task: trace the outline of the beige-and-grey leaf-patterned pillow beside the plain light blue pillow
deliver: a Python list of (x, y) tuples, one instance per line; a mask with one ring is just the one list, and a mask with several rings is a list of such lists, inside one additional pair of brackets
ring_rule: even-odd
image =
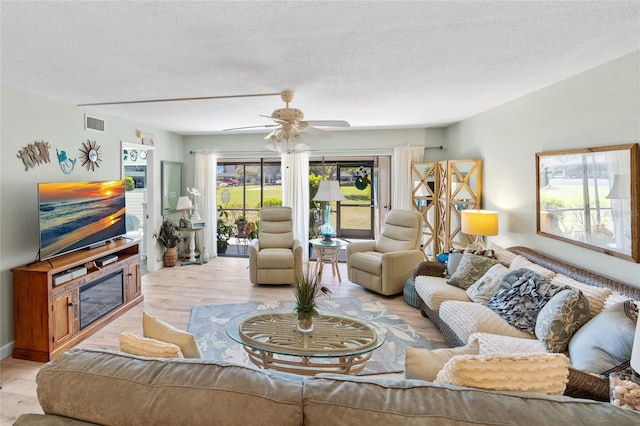
[(569, 340), (591, 318), (589, 300), (580, 290), (562, 290), (540, 309), (536, 337), (549, 352), (565, 352)]

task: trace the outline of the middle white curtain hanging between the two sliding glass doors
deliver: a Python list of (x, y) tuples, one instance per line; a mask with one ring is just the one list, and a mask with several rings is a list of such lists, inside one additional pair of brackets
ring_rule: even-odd
[(302, 244), (302, 261), (309, 258), (309, 153), (282, 154), (282, 205), (291, 207), (293, 237)]

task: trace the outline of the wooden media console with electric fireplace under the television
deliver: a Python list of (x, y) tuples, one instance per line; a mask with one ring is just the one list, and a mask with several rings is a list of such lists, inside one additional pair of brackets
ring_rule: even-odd
[[(100, 259), (117, 256), (98, 266)], [(86, 273), (58, 285), (66, 272), (86, 267)], [(120, 239), (28, 265), (13, 272), (13, 357), (46, 362), (98, 331), (142, 302), (140, 240)], [(82, 273), (80, 272), (77, 274)], [(122, 276), (122, 304), (81, 327), (80, 293), (92, 284)]]

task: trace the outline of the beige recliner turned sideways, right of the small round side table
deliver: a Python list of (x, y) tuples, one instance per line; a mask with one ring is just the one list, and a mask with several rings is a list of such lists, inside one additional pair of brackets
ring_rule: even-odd
[(376, 241), (358, 241), (347, 246), (349, 281), (386, 296), (401, 293), (418, 263), (422, 215), (417, 211), (391, 210)]

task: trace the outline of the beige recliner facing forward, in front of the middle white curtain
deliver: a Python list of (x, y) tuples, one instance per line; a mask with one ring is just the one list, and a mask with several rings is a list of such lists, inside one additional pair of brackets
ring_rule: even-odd
[(302, 271), (302, 246), (293, 238), (291, 207), (263, 207), (258, 238), (249, 245), (253, 284), (293, 284)]

